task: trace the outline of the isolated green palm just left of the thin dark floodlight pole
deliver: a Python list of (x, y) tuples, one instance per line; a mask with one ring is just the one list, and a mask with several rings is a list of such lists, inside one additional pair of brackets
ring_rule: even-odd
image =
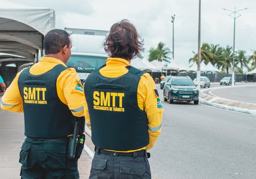
[(157, 48), (151, 47), (149, 52), (149, 61), (158, 60), (158, 61), (164, 61), (164, 60), (170, 60), (170, 57), (168, 56), (172, 52), (168, 47), (164, 47), (165, 44), (162, 42), (159, 42), (157, 45)]

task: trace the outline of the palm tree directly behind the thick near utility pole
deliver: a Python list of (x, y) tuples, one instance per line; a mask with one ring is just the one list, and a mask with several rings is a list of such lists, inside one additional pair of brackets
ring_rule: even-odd
[[(210, 61), (213, 61), (213, 55), (210, 52), (210, 48), (211, 47), (209, 46), (208, 43), (203, 43), (202, 44), (202, 47), (201, 47), (201, 61), (200, 61), (200, 63), (202, 61), (204, 61), (205, 64), (208, 64)], [(191, 62), (191, 61), (196, 62), (197, 59), (198, 59), (198, 54), (195, 53), (194, 51), (193, 51), (193, 53), (194, 53), (194, 57), (190, 58), (189, 62)]]

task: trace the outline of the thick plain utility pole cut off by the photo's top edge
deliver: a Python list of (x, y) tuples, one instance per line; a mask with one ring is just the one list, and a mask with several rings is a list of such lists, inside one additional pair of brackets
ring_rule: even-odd
[(200, 92), (200, 78), (201, 78), (201, 72), (200, 72), (200, 63), (201, 63), (201, 0), (199, 0), (199, 21), (198, 21), (198, 59), (197, 59), (197, 89)]

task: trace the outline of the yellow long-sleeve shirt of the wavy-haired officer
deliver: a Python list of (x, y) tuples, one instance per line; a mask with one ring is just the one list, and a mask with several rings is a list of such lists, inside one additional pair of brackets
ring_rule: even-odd
[[(106, 66), (100, 69), (100, 73), (104, 77), (116, 78), (124, 75), (128, 72), (126, 66), (131, 65), (127, 60), (121, 58), (108, 58), (106, 60)], [(86, 86), (84, 86), (86, 88)], [(138, 84), (137, 100), (138, 106), (142, 111), (146, 112), (148, 119), (148, 134), (149, 144), (141, 149), (151, 149), (160, 135), (163, 107), (158, 105), (157, 99), (158, 94), (155, 92), (156, 86), (154, 80), (148, 73), (141, 76), (141, 80)], [(85, 97), (86, 98), (86, 97)], [(84, 98), (84, 114), (88, 128), (91, 129), (90, 115), (88, 112), (87, 102)], [(118, 135), (118, 134), (117, 134)], [(137, 149), (137, 150), (141, 150)], [(118, 151), (118, 152), (132, 152), (137, 150), (129, 151)]]

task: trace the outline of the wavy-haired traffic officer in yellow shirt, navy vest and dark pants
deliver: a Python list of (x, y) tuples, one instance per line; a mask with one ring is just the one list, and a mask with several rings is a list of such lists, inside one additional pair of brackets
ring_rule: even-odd
[(84, 112), (95, 154), (90, 179), (151, 179), (148, 158), (161, 132), (163, 106), (154, 80), (131, 66), (143, 40), (128, 20), (106, 42), (110, 58), (84, 84)]

